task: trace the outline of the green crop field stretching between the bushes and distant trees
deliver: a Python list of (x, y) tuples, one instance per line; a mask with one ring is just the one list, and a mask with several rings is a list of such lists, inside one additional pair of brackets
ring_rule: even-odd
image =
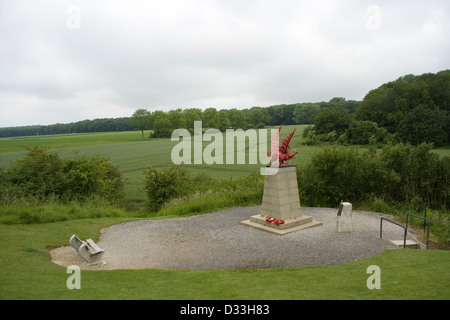
[[(297, 131), (291, 141), (293, 150), (298, 150), (298, 155), (292, 163), (307, 161), (310, 155), (320, 147), (300, 146), (301, 134), (304, 125), (286, 126), (282, 129), (280, 137), (286, 137), (297, 127)], [(148, 136), (148, 134), (147, 134)], [(280, 139), (281, 140), (281, 139)], [(181, 141), (181, 140), (180, 140)], [(230, 143), (226, 141), (223, 134), (224, 152)], [(33, 145), (43, 145), (52, 151), (56, 151), (62, 158), (71, 158), (77, 155), (100, 155), (107, 157), (113, 165), (119, 167), (125, 180), (125, 191), (130, 200), (144, 199), (143, 192), (143, 174), (149, 166), (153, 168), (162, 168), (173, 164), (171, 159), (172, 149), (179, 141), (170, 139), (147, 139), (141, 140), (141, 133), (138, 131), (113, 132), (113, 133), (93, 133), (93, 134), (64, 134), (36, 137), (17, 137), (0, 139), (0, 166), (8, 166), (11, 161), (25, 155), (26, 147)], [(211, 144), (210, 141), (203, 141), (202, 148)], [(270, 130), (268, 130), (267, 148), (270, 148)], [(202, 164), (194, 164), (194, 152), (192, 143), (192, 162), (186, 164), (186, 168), (192, 172), (206, 172), (219, 179), (227, 179), (247, 175), (252, 171), (258, 171), (262, 165), (249, 163), (249, 146), (246, 142), (245, 150), (238, 150), (236, 145), (233, 149), (235, 153), (245, 152), (246, 160), (244, 164), (227, 164), (225, 154), (223, 155), (223, 164), (208, 165), (202, 161)], [(266, 150), (258, 150), (264, 153)]]

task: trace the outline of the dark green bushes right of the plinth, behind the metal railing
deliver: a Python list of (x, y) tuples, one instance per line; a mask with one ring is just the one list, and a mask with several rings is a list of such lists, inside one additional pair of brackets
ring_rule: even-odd
[(450, 158), (431, 145), (385, 146), (380, 154), (355, 148), (326, 148), (297, 168), (302, 203), (333, 206), (374, 202), (448, 209)]

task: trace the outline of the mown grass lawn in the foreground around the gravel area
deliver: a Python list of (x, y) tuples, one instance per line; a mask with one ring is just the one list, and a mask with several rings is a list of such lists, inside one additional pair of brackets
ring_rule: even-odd
[[(66, 268), (48, 247), (72, 234), (97, 240), (103, 227), (125, 218), (0, 225), (0, 299), (297, 300), (450, 298), (450, 252), (397, 249), (331, 266), (262, 270), (81, 271), (69, 290)], [(299, 246), (299, 249), (301, 247)], [(369, 290), (367, 268), (381, 270), (381, 289)]]

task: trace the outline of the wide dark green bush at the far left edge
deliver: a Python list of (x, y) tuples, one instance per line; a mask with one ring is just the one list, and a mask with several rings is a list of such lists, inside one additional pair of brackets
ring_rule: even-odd
[(37, 198), (41, 200), (85, 200), (102, 197), (122, 200), (123, 182), (119, 170), (101, 157), (63, 160), (42, 146), (0, 170), (0, 199)]

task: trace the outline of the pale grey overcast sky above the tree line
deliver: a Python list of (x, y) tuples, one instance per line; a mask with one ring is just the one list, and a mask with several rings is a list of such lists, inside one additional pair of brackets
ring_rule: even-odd
[(450, 1), (0, 0), (0, 127), (362, 100), (450, 68)]

